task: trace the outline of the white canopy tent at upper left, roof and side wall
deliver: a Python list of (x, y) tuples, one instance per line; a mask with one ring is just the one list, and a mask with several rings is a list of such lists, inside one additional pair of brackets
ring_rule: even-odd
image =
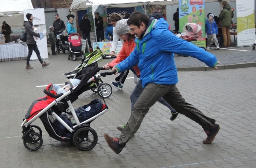
[(23, 27), (23, 10), (33, 9), (31, 0), (1, 0), (0, 24), (6, 21), (11, 29), (21, 29)]

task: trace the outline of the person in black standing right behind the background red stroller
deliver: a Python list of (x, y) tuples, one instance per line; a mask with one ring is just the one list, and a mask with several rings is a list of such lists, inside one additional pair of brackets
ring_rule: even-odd
[(92, 48), (90, 37), (91, 22), (88, 19), (88, 14), (84, 14), (83, 19), (80, 22), (79, 29), (83, 32), (83, 39), (87, 39), (89, 48)]

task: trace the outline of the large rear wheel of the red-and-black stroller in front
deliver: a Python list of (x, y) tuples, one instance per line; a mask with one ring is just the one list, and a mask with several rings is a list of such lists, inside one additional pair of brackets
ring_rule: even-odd
[(79, 150), (91, 150), (98, 142), (96, 131), (90, 127), (79, 128), (73, 136), (73, 143)]

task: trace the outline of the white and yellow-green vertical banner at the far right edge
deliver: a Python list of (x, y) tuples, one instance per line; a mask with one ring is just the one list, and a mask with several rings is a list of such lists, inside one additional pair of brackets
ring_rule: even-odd
[(237, 0), (237, 45), (252, 45), (255, 40), (254, 0)]

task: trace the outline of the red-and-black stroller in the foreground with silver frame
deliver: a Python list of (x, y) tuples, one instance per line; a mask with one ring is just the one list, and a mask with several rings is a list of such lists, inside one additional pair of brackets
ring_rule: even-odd
[(61, 142), (73, 143), (79, 150), (90, 150), (95, 147), (98, 142), (98, 135), (90, 127), (90, 123), (108, 111), (105, 101), (102, 104), (100, 100), (95, 99), (90, 104), (75, 110), (72, 102), (80, 94), (90, 90), (92, 85), (99, 86), (98, 79), (101, 76), (105, 77), (115, 73), (115, 71), (112, 71), (97, 74), (100, 69), (102, 68), (98, 67), (97, 62), (92, 63), (77, 73), (76, 78), (81, 80), (77, 86), (64, 94), (57, 94), (53, 85), (49, 84), (44, 89), (46, 96), (33, 101), (21, 125), (23, 128), (23, 144), (28, 150), (38, 150), (43, 144), (41, 128), (31, 125), (37, 118), (41, 119), (46, 131), (52, 138)]

